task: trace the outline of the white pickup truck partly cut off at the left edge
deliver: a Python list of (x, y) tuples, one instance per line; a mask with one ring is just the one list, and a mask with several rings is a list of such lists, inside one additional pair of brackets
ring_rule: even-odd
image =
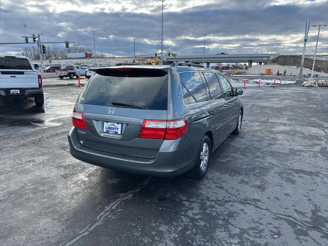
[(0, 55), (0, 99), (34, 97), (35, 105), (44, 105), (42, 76), (26, 56)]

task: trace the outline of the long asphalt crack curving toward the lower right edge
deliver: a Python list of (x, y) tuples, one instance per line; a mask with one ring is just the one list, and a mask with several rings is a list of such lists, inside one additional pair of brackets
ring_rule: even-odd
[[(175, 197), (176, 199), (178, 200), (181, 200), (181, 201), (188, 201), (188, 200), (184, 200), (184, 199), (180, 199), (179, 197)], [(314, 229), (317, 229), (317, 230), (320, 230), (321, 232), (323, 233), (326, 233), (328, 234), (328, 230), (325, 230), (321, 227), (317, 227), (317, 226), (312, 226), (311, 224), (308, 224), (308, 223), (305, 223), (299, 219), (296, 219), (294, 216), (292, 215), (286, 215), (286, 214), (280, 214), (280, 213), (276, 213), (276, 212), (272, 212), (270, 211), (269, 209), (265, 209), (265, 208), (262, 208), (252, 202), (248, 202), (248, 201), (237, 201), (237, 200), (220, 200), (220, 199), (196, 199), (196, 200), (189, 200), (189, 202), (200, 202), (200, 201), (212, 201), (212, 202), (222, 202), (222, 203), (240, 203), (240, 204), (248, 204), (250, 206), (253, 206), (257, 209), (260, 209), (260, 210), (263, 210), (263, 211), (266, 211), (270, 214), (273, 214), (279, 218), (284, 218), (284, 219), (288, 219), (288, 220), (291, 220), (301, 226), (304, 226), (304, 227), (308, 227), (308, 228), (314, 228)]]

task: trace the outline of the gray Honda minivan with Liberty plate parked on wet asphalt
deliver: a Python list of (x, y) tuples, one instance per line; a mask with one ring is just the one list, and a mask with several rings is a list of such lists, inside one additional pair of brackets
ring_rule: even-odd
[(240, 132), (241, 94), (197, 64), (96, 69), (73, 109), (70, 152), (135, 174), (201, 178), (211, 152)]

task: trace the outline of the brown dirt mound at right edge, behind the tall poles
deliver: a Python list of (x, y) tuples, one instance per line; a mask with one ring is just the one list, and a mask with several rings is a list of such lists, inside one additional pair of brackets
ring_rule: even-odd
[[(301, 55), (280, 55), (270, 61), (267, 64), (277, 64), (282, 66), (295, 66), (301, 65)], [(313, 59), (304, 59), (304, 68), (312, 69)], [(328, 61), (317, 60), (314, 66), (314, 71), (328, 73)]]

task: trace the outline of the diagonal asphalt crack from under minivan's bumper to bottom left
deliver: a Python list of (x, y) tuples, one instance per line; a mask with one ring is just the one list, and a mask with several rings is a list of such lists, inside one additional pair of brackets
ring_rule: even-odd
[(95, 229), (97, 226), (101, 224), (101, 222), (119, 205), (119, 203), (121, 203), (121, 201), (131, 198), (133, 193), (140, 191), (141, 188), (146, 186), (151, 179), (152, 177), (146, 178), (144, 181), (139, 183), (139, 185), (136, 188), (122, 194), (118, 199), (110, 203), (109, 206), (106, 206), (105, 210), (97, 216), (97, 219), (93, 223), (89, 224), (89, 226), (87, 226), (84, 230), (79, 232), (71, 240), (61, 244), (61, 246), (72, 245), (74, 242), (78, 241), (81, 237), (88, 235), (90, 232), (92, 232), (93, 229)]

